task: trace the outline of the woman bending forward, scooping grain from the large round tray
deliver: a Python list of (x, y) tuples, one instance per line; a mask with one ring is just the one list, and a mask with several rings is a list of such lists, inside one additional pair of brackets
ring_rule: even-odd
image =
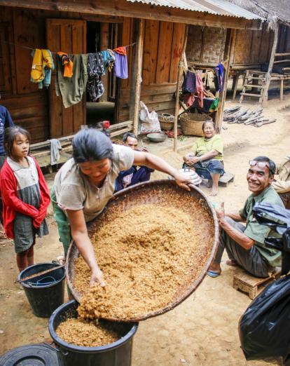
[(158, 156), (112, 144), (109, 137), (95, 128), (78, 132), (72, 144), (73, 158), (62, 165), (55, 175), (51, 191), (54, 217), (64, 255), (67, 255), (73, 238), (92, 271), (90, 285), (99, 283), (104, 286), (86, 222), (95, 219), (113, 196), (115, 180), (120, 171), (132, 165), (146, 165), (171, 175), (179, 187), (188, 191), (191, 179)]

